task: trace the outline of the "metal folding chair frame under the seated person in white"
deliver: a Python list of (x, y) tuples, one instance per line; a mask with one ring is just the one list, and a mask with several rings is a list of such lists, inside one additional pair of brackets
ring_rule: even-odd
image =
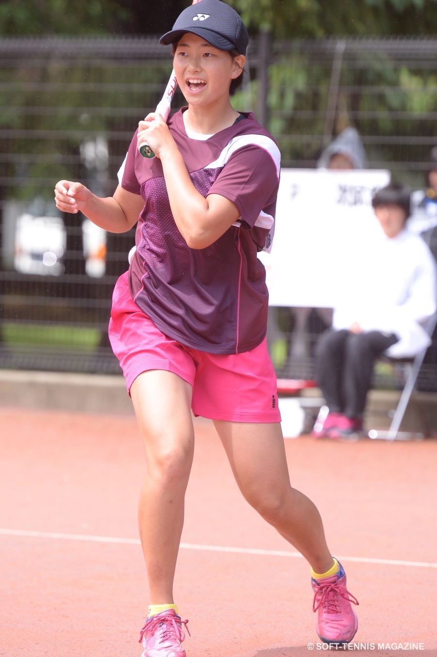
[[(429, 336), (432, 336), (434, 332), (434, 328), (436, 327), (437, 323), (437, 313), (435, 315), (432, 315), (428, 319), (428, 321), (425, 323), (425, 330), (427, 331)], [(417, 376), (419, 375), (419, 371), (422, 367), (423, 359), (425, 358), (425, 354), (427, 353), (428, 348), (423, 349), (422, 351), (419, 351), (417, 355), (411, 360), (411, 361), (402, 361), (403, 363), (407, 363), (407, 369), (408, 373), (405, 379), (404, 383), (404, 388), (402, 390), (402, 394), (399, 398), (398, 405), (396, 407), (396, 411), (394, 411), (394, 415), (392, 417), (392, 422), (390, 424), (390, 428), (388, 431), (380, 431), (376, 429), (371, 429), (369, 431), (369, 438), (379, 438), (383, 440), (417, 440), (418, 436), (417, 434), (413, 434), (412, 432), (400, 432), (400, 425), (402, 423), (402, 420), (404, 419), (404, 415), (407, 410), (407, 405), (409, 403), (409, 400), (411, 398), (411, 395), (413, 394), (417, 382)], [(395, 359), (389, 359), (390, 362), (395, 363)], [(425, 438), (425, 436), (420, 436), (420, 438)]]

